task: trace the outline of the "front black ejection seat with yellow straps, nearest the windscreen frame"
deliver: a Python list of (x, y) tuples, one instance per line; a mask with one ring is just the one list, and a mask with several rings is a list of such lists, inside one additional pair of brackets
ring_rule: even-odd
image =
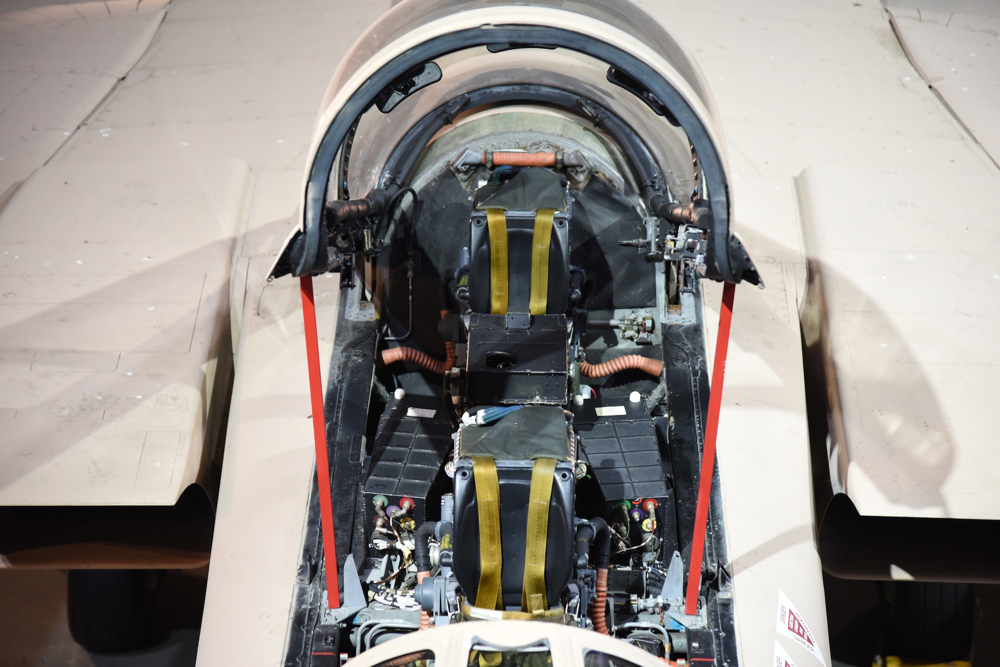
[(472, 618), (561, 619), (573, 574), (572, 433), (557, 405), (460, 431), (454, 571)]

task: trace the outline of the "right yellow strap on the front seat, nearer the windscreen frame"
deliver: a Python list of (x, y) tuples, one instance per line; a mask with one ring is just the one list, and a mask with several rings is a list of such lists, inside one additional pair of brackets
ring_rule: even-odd
[[(556, 459), (536, 458), (531, 468), (531, 497), (528, 500), (528, 529), (524, 545), (524, 592), (521, 610), (535, 616), (548, 611), (545, 590), (545, 547), (549, 540), (549, 504)], [(478, 598), (476, 600), (478, 602)]]

